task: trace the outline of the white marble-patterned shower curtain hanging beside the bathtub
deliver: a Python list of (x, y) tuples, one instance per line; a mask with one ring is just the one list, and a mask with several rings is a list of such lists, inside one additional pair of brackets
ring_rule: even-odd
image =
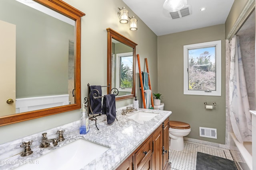
[(229, 106), (230, 121), (240, 143), (252, 141), (252, 117), (246, 90), (239, 37), (234, 36), (230, 47)]

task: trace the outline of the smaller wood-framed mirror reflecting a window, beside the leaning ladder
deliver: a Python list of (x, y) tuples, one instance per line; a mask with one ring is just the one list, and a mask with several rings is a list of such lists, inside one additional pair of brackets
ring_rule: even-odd
[(136, 43), (118, 32), (108, 31), (108, 84), (118, 89), (116, 100), (135, 96), (135, 49)]

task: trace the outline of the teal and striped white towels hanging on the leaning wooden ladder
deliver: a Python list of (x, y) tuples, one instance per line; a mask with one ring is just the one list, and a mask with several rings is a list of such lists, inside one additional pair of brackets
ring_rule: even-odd
[(151, 90), (149, 89), (148, 84), (148, 72), (141, 72), (142, 74), (142, 83), (144, 89), (146, 109), (149, 109), (151, 106)]

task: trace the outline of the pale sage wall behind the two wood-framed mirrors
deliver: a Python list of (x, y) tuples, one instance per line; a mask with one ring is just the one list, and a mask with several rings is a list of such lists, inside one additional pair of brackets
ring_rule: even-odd
[[(87, 96), (87, 84), (107, 84), (107, 31), (110, 27), (121, 33), (128, 39), (137, 43), (136, 53), (140, 54), (140, 63), (144, 70), (144, 58), (148, 58), (150, 80), (153, 91), (158, 89), (157, 83), (157, 36), (140, 20), (122, 0), (85, 1), (64, 0), (78, 10), (86, 13), (82, 17), (82, 42), (81, 42), (81, 98)], [(130, 31), (129, 24), (120, 24), (117, 16), (118, 7), (125, 6), (129, 10), (129, 16), (138, 19), (138, 30)], [(61, 85), (60, 85), (61, 86)], [(106, 90), (103, 89), (103, 94)], [(141, 91), (139, 89), (138, 63), (136, 63), (136, 96), (142, 107)], [(116, 107), (132, 104), (134, 99), (116, 102)], [(80, 118), (80, 111), (69, 111), (57, 115), (51, 115), (12, 125), (0, 127), (0, 144), (25, 137), (40, 131), (46, 131)], [(92, 127), (94, 128), (94, 127)], [(17, 129), (19, 132), (17, 133)]]

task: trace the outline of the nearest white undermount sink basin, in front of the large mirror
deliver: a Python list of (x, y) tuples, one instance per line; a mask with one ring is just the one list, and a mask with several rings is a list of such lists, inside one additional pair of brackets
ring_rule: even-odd
[(108, 147), (104, 147), (84, 139), (77, 139), (76, 141), (68, 143), (67, 145), (52, 150), (51, 152), (34, 159), (33, 164), (30, 163), (19, 166), (17, 170), (81, 169), (95, 158), (98, 158), (108, 149)]

